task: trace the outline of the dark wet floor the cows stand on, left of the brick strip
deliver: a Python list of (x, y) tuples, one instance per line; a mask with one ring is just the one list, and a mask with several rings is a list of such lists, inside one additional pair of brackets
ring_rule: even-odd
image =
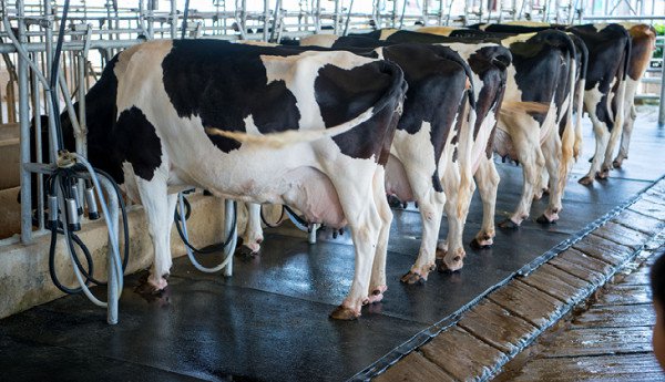
[[(328, 313), (350, 287), (354, 251), (348, 235), (309, 246), (304, 234), (268, 230), (259, 257), (235, 260), (234, 276), (204, 275), (186, 258), (174, 261), (162, 299), (145, 301), (126, 278), (120, 323), (73, 296), (0, 321), (0, 380), (265, 380), (339, 381), (354, 376), (418, 332), (446, 319), (510, 278), (571, 235), (631, 199), (665, 174), (665, 130), (653, 109), (642, 111), (624, 169), (587, 188), (576, 183), (589, 164), (574, 167), (556, 225), (533, 221), (498, 230), (491, 249), (467, 248), (466, 266), (432, 273), (424, 286), (399, 277), (413, 262), (421, 235), (413, 208), (396, 210), (388, 254), (388, 292), (355, 322)], [(593, 149), (585, 126), (585, 154)], [(521, 168), (499, 164), (497, 220), (512, 210), (521, 190)], [(482, 220), (478, 195), (467, 224), (468, 244)], [(446, 220), (441, 238), (446, 236)], [(280, 234), (279, 234), (280, 233)], [(214, 261), (215, 259), (211, 259)]]

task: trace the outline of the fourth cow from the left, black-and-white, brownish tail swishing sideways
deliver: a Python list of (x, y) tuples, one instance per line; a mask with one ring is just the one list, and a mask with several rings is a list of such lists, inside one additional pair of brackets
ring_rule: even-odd
[[(500, 227), (516, 228), (529, 216), (532, 200), (546, 188), (543, 166), (549, 174), (551, 196), (548, 208), (536, 220), (541, 224), (556, 221), (562, 209), (565, 180), (573, 163), (575, 142), (572, 109), (576, 51), (571, 38), (555, 30), (485, 39), (397, 31), (390, 33), (387, 41), (492, 41), (510, 49), (513, 62), (508, 69), (508, 89), (502, 106), (504, 112), (500, 114), (493, 145), (500, 155), (522, 164), (524, 182), (518, 208), (500, 223)], [(538, 107), (542, 104), (548, 106), (546, 110)], [(519, 107), (507, 109), (507, 105)]]

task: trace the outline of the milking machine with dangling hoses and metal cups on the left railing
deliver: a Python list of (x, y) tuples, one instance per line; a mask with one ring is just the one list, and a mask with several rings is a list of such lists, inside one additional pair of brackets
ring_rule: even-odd
[[(51, 231), (51, 242), (49, 249), (49, 271), (53, 283), (65, 293), (84, 293), (94, 304), (104, 307), (108, 310), (106, 321), (109, 323), (117, 323), (117, 301), (123, 289), (123, 273), (129, 260), (129, 229), (126, 209), (122, 199), (122, 195), (117, 184), (113, 178), (99, 169), (93, 168), (84, 156), (78, 153), (69, 153), (64, 149), (62, 126), (60, 121), (60, 100), (58, 95), (59, 78), (60, 78), (60, 55), (64, 41), (64, 29), (68, 20), (68, 11), (70, 1), (65, 0), (62, 6), (62, 18), (60, 19), (60, 31), (55, 50), (53, 52), (52, 62), (50, 64), (50, 81), (47, 81), (44, 75), (39, 71), (37, 63), (32, 62), (24, 51), (21, 42), (24, 42), (25, 23), (21, 19), (23, 13), (22, 2), (20, 2), (19, 11), (19, 38), (13, 35), (9, 25), (7, 16), (3, 18), (8, 35), (14, 43), (20, 58), (20, 72), (22, 76), (27, 74), (28, 68), (32, 69), (35, 76), (42, 83), (48, 97), (50, 97), (49, 113), (49, 137), (50, 137), (50, 158), (51, 164), (39, 164), (23, 162), (23, 169), (27, 174), (23, 177), (24, 187), (21, 189), (21, 203), (30, 203), (30, 173), (47, 175), (47, 204), (49, 217), (47, 228)], [(45, 12), (50, 12), (50, 3), (45, 2)], [(51, 22), (50, 20), (48, 21)], [(50, 24), (47, 29), (47, 52), (51, 51), (51, 41), (49, 40)], [(50, 54), (48, 54), (49, 56)], [(51, 61), (51, 60), (47, 60)], [(65, 85), (65, 84), (61, 84)], [(25, 86), (20, 86), (20, 90), (25, 90)], [(21, 97), (28, 100), (27, 96)], [(28, 113), (27, 105), (20, 105), (22, 124), (27, 125)], [(39, 132), (38, 132), (39, 134)], [(23, 135), (22, 141), (29, 147), (29, 135)], [(40, 149), (38, 147), (37, 149)], [(25, 151), (29, 152), (29, 151)], [(38, 197), (41, 197), (38, 196)], [(99, 200), (99, 205), (98, 205)], [(119, 209), (123, 217), (124, 231), (124, 256), (121, 259), (119, 246)], [(83, 242), (82, 238), (76, 234), (81, 230), (81, 223), (84, 218), (84, 213), (88, 213), (89, 220), (98, 220), (104, 218), (109, 230), (109, 257), (108, 257), (108, 281), (103, 282), (94, 278), (93, 258), (90, 250)], [(101, 214), (100, 214), (101, 211)], [(59, 235), (65, 239), (66, 250), (72, 264), (74, 277), (78, 281), (78, 287), (64, 286), (58, 277), (55, 266), (55, 249)], [(78, 248), (78, 249), (76, 249)], [(81, 258), (84, 258), (85, 266)], [(96, 298), (90, 287), (93, 285), (106, 286), (108, 297), (106, 302)]]

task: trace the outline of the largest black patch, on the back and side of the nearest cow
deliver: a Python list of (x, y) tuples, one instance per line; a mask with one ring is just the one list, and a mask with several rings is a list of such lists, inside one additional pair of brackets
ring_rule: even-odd
[[(229, 44), (217, 40), (173, 41), (164, 58), (164, 89), (181, 117), (200, 116), (204, 127), (245, 132), (252, 115), (260, 133), (298, 128), (296, 97), (284, 81), (267, 83), (262, 54), (294, 55), (296, 49)], [(225, 153), (237, 141), (208, 135)]]

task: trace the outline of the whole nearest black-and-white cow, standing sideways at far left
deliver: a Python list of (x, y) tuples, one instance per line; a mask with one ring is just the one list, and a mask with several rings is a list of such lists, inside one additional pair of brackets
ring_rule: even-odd
[(386, 289), (385, 164), (405, 92), (399, 66), (377, 56), (151, 41), (119, 53), (86, 94), (90, 161), (145, 209), (154, 290), (171, 268), (176, 193), (195, 186), (348, 225), (355, 275), (330, 316), (355, 319)]

